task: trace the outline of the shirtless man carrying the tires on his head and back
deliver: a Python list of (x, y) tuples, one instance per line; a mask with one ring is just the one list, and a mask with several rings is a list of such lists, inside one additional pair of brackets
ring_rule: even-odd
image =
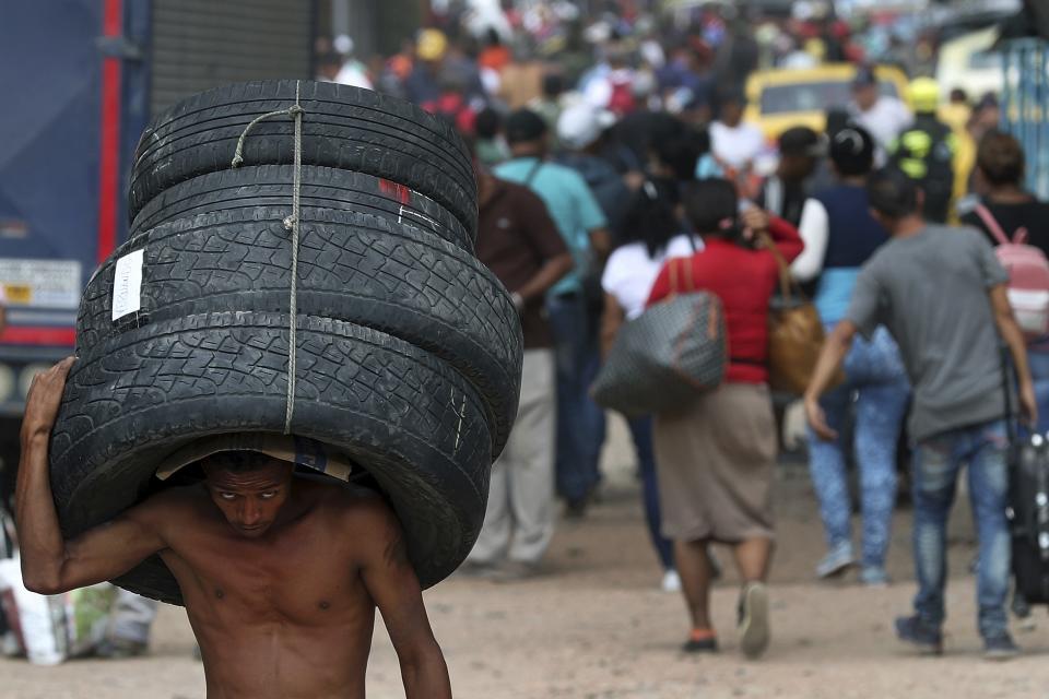
[(451, 697), (400, 525), (373, 494), (225, 452), (202, 462), (203, 484), (63, 541), (47, 449), (71, 365), (39, 375), (26, 401), (15, 500), (26, 588), (82, 588), (160, 554), (181, 588), (210, 699), (364, 697), (378, 606), (406, 697)]

